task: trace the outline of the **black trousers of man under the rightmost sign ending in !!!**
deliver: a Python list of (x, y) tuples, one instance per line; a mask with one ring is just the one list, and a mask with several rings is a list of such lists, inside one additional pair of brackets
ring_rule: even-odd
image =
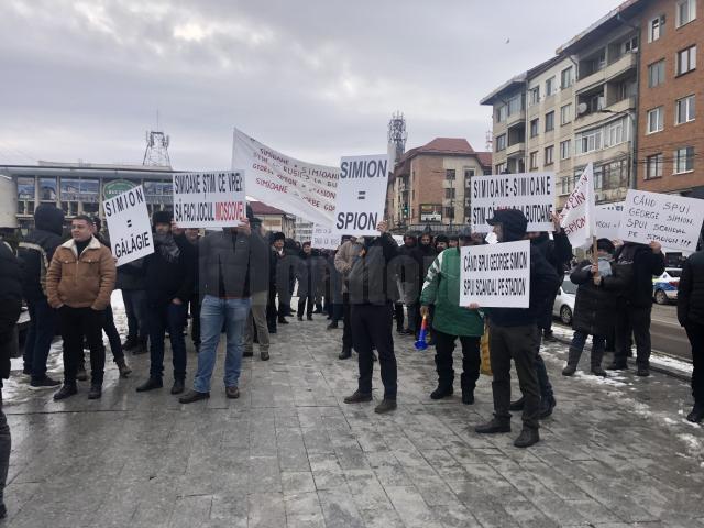
[(619, 306), (616, 311), (616, 352), (614, 363), (625, 365), (630, 351), (630, 336), (636, 341), (636, 363), (638, 366), (650, 364), (650, 312), (652, 306), (635, 307), (629, 304)]

